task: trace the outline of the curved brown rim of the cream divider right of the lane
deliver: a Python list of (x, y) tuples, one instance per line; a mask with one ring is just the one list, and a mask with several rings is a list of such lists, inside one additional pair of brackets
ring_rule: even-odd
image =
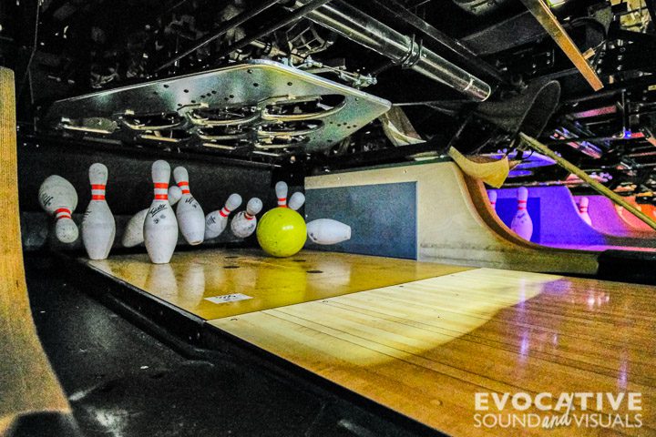
[(487, 198), (487, 190), (480, 180), (463, 175), (467, 192), (471, 198), (478, 216), (485, 222), (487, 227), (494, 231), (499, 239), (505, 241), (507, 249), (516, 250), (526, 254), (533, 259), (541, 259), (540, 264), (544, 265), (545, 271), (559, 271), (563, 273), (589, 273), (594, 274), (599, 268), (597, 261), (597, 252), (589, 250), (569, 250), (553, 249), (546, 246), (527, 241), (518, 237), (515, 232), (509, 229), (500, 219), (496, 211), (490, 206)]

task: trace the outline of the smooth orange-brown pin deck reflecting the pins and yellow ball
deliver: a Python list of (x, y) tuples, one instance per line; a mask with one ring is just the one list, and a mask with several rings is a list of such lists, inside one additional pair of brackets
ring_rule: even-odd
[[(468, 269), (407, 259), (305, 250), (292, 258), (276, 259), (264, 256), (257, 249), (180, 252), (169, 264), (159, 265), (150, 263), (146, 254), (87, 262), (95, 269), (206, 320)], [(219, 304), (206, 300), (234, 293), (252, 299)]]

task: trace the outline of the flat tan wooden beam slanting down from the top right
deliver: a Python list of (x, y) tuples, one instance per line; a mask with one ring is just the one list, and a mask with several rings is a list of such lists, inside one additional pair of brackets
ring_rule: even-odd
[(586, 58), (580, 53), (579, 47), (569, 37), (567, 31), (560, 25), (558, 19), (551, 12), (544, 0), (521, 0), (527, 7), (528, 11), (536, 17), (538, 23), (545, 28), (547, 33), (556, 41), (556, 44), (565, 52), (569, 60), (577, 67), (580, 74), (585, 77), (592, 89), (599, 91), (603, 88), (603, 83), (597, 72), (589, 66)]

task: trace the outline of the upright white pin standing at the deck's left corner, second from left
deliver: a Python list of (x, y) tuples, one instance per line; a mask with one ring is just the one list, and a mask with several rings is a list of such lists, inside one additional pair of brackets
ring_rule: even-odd
[(96, 163), (89, 167), (91, 201), (82, 219), (82, 242), (90, 259), (107, 259), (116, 237), (116, 222), (105, 200), (108, 168)]

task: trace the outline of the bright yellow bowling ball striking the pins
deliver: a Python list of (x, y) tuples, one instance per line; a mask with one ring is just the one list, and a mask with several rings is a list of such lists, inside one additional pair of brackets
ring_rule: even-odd
[(274, 257), (291, 257), (307, 239), (305, 220), (290, 208), (273, 208), (262, 216), (257, 228), (262, 249)]

